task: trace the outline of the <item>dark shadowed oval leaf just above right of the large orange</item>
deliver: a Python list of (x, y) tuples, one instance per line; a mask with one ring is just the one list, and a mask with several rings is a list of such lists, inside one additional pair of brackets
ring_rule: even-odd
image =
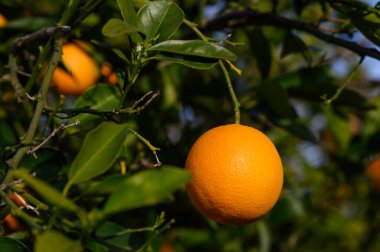
[(289, 102), (286, 91), (274, 81), (268, 81), (261, 85), (260, 94), (264, 102), (273, 110), (273, 112), (282, 118), (297, 118), (293, 106)]

